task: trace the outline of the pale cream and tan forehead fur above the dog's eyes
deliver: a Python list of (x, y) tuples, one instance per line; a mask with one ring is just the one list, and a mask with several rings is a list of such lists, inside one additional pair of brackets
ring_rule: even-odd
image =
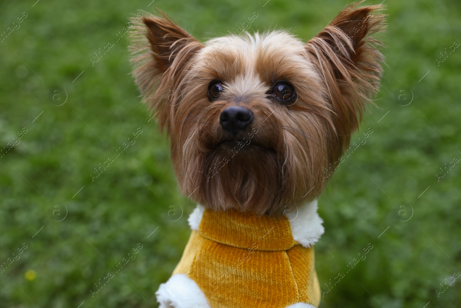
[(228, 91), (265, 93), (276, 81), (293, 83), (318, 78), (307, 60), (305, 43), (286, 31), (223, 36), (205, 43), (195, 69), (225, 81)]

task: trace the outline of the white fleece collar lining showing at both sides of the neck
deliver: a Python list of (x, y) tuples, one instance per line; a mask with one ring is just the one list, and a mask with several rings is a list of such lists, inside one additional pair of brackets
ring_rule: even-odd
[[(307, 248), (318, 242), (320, 236), (325, 232), (322, 225), (323, 220), (317, 213), (317, 208), (317, 200), (313, 200), (300, 208), (296, 208), (297, 213), (293, 213), (295, 217), (289, 218), (293, 239)], [(190, 229), (198, 231), (204, 210), (203, 205), (198, 204), (192, 211), (187, 219)]]

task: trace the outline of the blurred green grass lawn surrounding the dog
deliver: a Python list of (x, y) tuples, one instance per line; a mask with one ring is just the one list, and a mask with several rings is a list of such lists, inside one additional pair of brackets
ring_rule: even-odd
[[(18, 29), (0, 42), (0, 142), (16, 143), (0, 155), (0, 307), (156, 307), (154, 292), (181, 257), (195, 205), (179, 195), (168, 142), (140, 103), (127, 35), (113, 38), (128, 16), (159, 7), (204, 41), (256, 12), (250, 32), (282, 27), (307, 40), (347, 3), (2, 1), (0, 30)], [(373, 133), (319, 199), (321, 307), (461, 307), (461, 48), (445, 53), (461, 42), (461, 2), (384, 4), (381, 91), (352, 140)], [(136, 259), (92, 295), (138, 243)]]

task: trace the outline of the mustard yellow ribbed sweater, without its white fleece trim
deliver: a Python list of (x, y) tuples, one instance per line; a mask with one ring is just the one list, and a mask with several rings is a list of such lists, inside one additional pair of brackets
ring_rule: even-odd
[(194, 280), (212, 308), (320, 303), (313, 247), (293, 239), (285, 216), (206, 209), (174, 274)]

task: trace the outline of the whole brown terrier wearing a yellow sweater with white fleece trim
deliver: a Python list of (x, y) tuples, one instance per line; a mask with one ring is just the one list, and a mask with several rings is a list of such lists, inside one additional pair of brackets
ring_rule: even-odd
[(161, 308), (319, 306), (316, 199), (382, 76), (384, 7), (362, 2), (307, 42), (272, 30), (202, 43), (161, 11), (136, 23), (134, 79), (198, 204)]

